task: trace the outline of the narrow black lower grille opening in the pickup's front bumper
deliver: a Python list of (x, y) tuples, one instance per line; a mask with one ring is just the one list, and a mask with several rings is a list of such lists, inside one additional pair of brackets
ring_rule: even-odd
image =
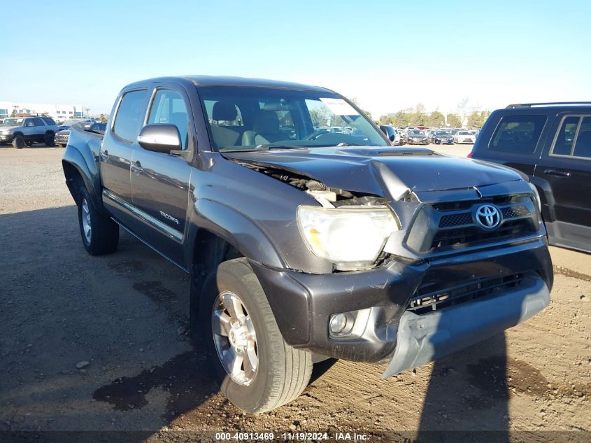
[(429, 283), (419, 286), (406, 309), (414, 314), (427, 314), (454, 304), (480, 297), (493, 297), (517, 288), (525, 281), (523, 274), (476, 279), (455, 283)]

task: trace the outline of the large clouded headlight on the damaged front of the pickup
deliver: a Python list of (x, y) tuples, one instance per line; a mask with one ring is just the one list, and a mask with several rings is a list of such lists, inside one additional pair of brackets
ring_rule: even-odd
[(386, 206), (299, 206), (297, 223), (308, 248), (341, 271), (372, 267), (390, 234), (399, 230)]

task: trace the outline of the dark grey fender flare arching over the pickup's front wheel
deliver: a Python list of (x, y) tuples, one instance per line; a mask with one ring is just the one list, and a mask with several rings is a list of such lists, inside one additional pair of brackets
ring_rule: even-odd
[[(285, 260), (269, 236), (253, 220), (236, 209), (211, 199), (198, 199), (192, 206), (188, 244), (194, 245), (201, 230), (227, 241), (249, 260), (285, 269)], [(186, 250), (187, 263), (194, 260), (194, 248)]]

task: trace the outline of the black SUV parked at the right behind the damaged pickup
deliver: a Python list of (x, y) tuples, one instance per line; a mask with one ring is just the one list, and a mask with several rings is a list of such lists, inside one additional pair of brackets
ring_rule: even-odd
[(591, 252), (591, 102), (511, 104), (494, 111), (469, 157), (535, 183), (550, 244)]

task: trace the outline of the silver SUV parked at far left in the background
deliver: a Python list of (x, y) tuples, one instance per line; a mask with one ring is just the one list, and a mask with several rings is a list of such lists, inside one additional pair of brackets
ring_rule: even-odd
[(55, 146), (53, 138), (58, 130), (55, 121), (50, 117), (6, 118), (0, 129), (0, 143), (12, 143), (17, 149), (32, 146), (33, 143)]

